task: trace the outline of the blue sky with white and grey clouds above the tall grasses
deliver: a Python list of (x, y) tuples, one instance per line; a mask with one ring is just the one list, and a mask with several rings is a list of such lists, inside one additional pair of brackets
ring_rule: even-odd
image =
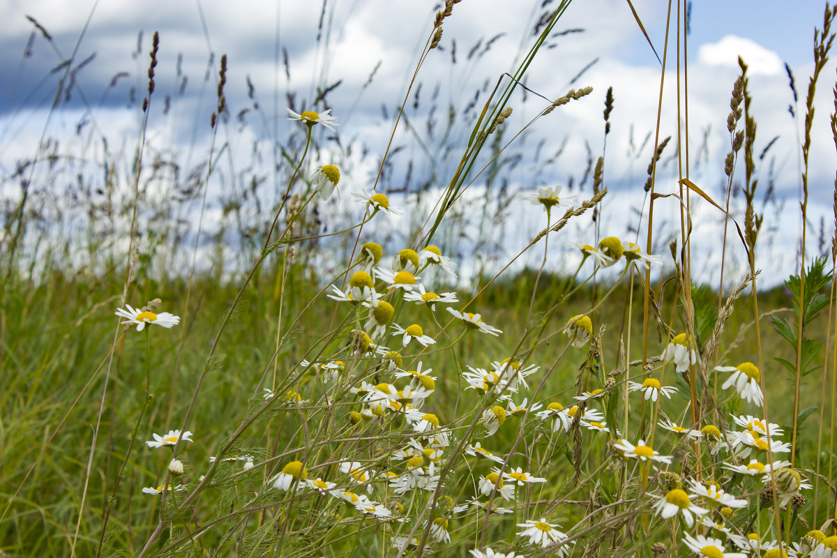
[[(634, 1), (660, 57), (666, 5), (660, 0)], [(345, 187), (370, 187), (376, 161), (380, 161), (392, 131), (393, 113), (403, 100), (438, 8), (434, 2), (420, 0), (331, 0), (325, 5), (301, 0), (7, 0), (0, 4), (0, 18), (5, 23), (0, 38), (5, 76), (0, 86), (3, 195), (15, 195), (9, 177), (18, 161), (35, 156), (42, 137), (59, 141), (62, 153), (80, 157), (98, 156), (101, 142), (91, 141), (91, 137), (105, 138), (111, 151), (131, 152), (141, 120), (138, 106), (146, 88), (147, 53), (154, 31), (160, 33), (161, 46), (149, 124), (153, 149), (177, 153), (187, 168), (205, 158), (210, 137), (208, 119), (216, 102), (218, 59), (227, 54), (229, 118), (225, 140), (231, 153), (230, 166), (239, 166), (240, 171), (242, 166), (254, 166), (257, 160), (270, 169), (272, 150), (259, 151), (254, 146), (274, 145), (274, 140), (285, 144), (295, 132), (294, 124), (285, 118), (289, 93), (297, 110), (311, 108), (318, 90), (336, 84), (326, 102), (340, 127), (336, 136), (322, 136), (321, 144), (326, 152), (339, 146), (344, 157), (347, 146), (356, 146), (352, 164), (346, 163), (350, 172), (346, 173)], [(726, 118), (732, 84), (739, 74), (737, 56), (741, 55), (750, 65), (752, 111), (758, 125), (755, 151), (760, 153), (778, 138), (757, 166), (762, 194), (768, 182), (776, 193), (764, 210), (768, 240), (760, 264), (778, 274), (788, 272), (796, 261), (798, 131), (804, 117), (798, 115), (794, 120), (789, 114), (793, 95), (784, 64), (792, 69), (799, 100), (804, 102), (813, 69), (814, 26), (821, 26), (823, 8), (823, 3), (814, 1), (794, 3), (793, 11), (788, 10), (787, 3), (778, 1), (691, 3), (691, 177), (719, 202), (723, 199), (722, 161), (729, 149)], [(427, 182), (419, 177), (422, 173), (432, 177), (428, 179), (431, 186), (446, 184), (461, 154), (456, 149), (462, 148), (470, 136), (471, 128), (465, 125), (472, 125), (473, 120), (469, 120), (465, 107), (478, 95), (475, 107), (470, 108), (472, 119), (501, 74), (516, 69), (531, 47), (532, 29), (543, 12), (540, 0), (463, 0), (455, 6), (444, 23), (440, 49), (429, 54), (417, 77), (421, 89), (415, 107), (413, 86), (407, 110), (413, 131), (405, 131), (402, 123), (396, 136), (395, 145), (402, 151), (393, 156), (390, 187), (403, 183), (410, 188)], [(50, 33), (52, 42), (34, 30), (27, 16)], [(510, 157), (519, 158), (519, 164), (506, 166), (502, 177), (514, 192), (572, 182), (573, 193), (589, 196), (589, 180), (581, 189), (579, 185), (588, 157), (601, 155), (603, 100), (608, 87), (613, 87), (616, 101), (605, 166), (605, 184), (611, 194), (603, 207), (602, 227), (605, 233), (612, 231), (624, 237), (637, 221), (630, 208), (643, 207), (642, 186), (653, 136), (650, 144), (645, 140), (655, 128), (660, 62), (624, 0), (576, 0), (562, 15), (555, 32), (531, 64), (526, 87), (549, 99), (563, 95), (570, 87), (586, 85), (593, 87), (593, 94), (527, 128), (507, 151)], [(486, 48), (492, 38), (490, 48)], [(672, 28), (661, 137), (676, 135), (674, 49)], [(90, 56), (94, 58), (83, 63)], [(70, 57), (72, 88), (68, 93), (65, 82), (63, 94), (50, 112), (59, 79), (65, 75), (59, 64)], [(834, 75), (834, 63), (829, 62), (816, 99), (809, 218), (809, 235), (814, 243), (820, 217), (829, 234), (834, 221), (830, 206), (837, 156), (828, 126), (828, 115), (834, 110)], [(546, 101), (537, 95), (524, 95), (518, 90), (512, 97), (514, 113), (506, 123), (506, 138), (543, 110)], [(441, 130), (449, 106), (456, 107), (456, 122), (462, 126), (454, 128), (443, 141)], [(322, 109), (323, 105), (318, 107)], [(802, 110), (799, 107), (798, 112)], [(429, 122), (435, 125), (434, 134), (426, 131)], [(443, 153), (443, 145), (452, 153)], [(253, 155), (255, 151), (259, 156)], [(558, 151), (560, 156), (553, 156)], [(660, 192), (675, 191), (674, 155), (672, 142), (658, 175)], [(404, 169), (406, 161), (415, 162), (410, 177)], [(129, 163), (130, 158), (123, 161)], [(39, 172), (34, 171), (33, 182), (38, 182)], [(235, 171), (230, 169), (229, 174), (235, 176)], [(484, 185), (484, 179), (475, 181), (475, 189)], [(216, 185), (213, 192), (220, 192), (220, 188)], [(655, 220), (669, 223), (674, 231), (679, 228), (675, 226), (679, 217), (670, 199), (657, 202)], [(740, 209), (738, 202), (734, 200), (732, 207)], [(213, 200), (209, 207), (213, 207)], [(218, 210), (217, 204), (214, 207)], [(516, 253), (526, 238), (542, 227), (543, 223), (527, 217), (531, 217), (529, 207), (517, 202), (509, 206), (508, 218), (515, 224), (504, 247), (508, 253)], [(693, 218), (702, 241), (720, 241), (723, 221), (716, 210), (695, 202)], [(574, 234), (589, 235), (591, 227), (589, 221), (578, 223)], [(471, 231), (465, 236), (473, 234)], [(667, 239), (665, 230), (660, 238)], [(580, 240), (566, 238), (563, 245)], [(556, 255), (556, 262), (560, 255)], [(711, 278), (718, 257), (712, 249), (702, 253), (701, 273), (706, 274), (706, 280)]]

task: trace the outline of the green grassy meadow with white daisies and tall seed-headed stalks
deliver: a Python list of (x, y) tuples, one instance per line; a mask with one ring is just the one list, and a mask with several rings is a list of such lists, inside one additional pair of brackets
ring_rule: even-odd
[[(457, 3), (435, 15), (402, 112)], [(228, 60), (209, 82), (205, 160), (187, 166), (146, 136), (162, 103), (157, 33), (134, 151), (33, 146), (4, 177), (20, 188), (0, 236), (0, 556), (837, 556), (837, 238), (815, 249), (801, 228), (798, 271), (761, 286), (774, 202), (743, 59), (717, 117), (726, 199), (689, 179), (687, 147), (670, 159), (679, 191), (655, 191), (659, 122), (647, 203), (618, 237), (567, 238), (608, 207), (604, 149), (578, 170), (583, 187), (512, 194), (499, 177), (523, 131), (595, 95), (606, 146), (619, 110), (579, 85), (509, 129), (568, 4), (544, 3), (516, 74), (450, 109), (433, 150), (447, 174), (406, 192), (390, 146), (373, 184), (341, 192), (361, 163), (335, 141), (341, 107), (320, 90), (289, 95), (293, 131), (270, 174), (248, 167), (213, 212), (239, 110)], [(803, 223), (834, 18), (826, 7), (812, 22), (800, 95)], [(816, 118), (837, 148), (837, 89), (823, 79), (834, 113)], [(521, 254), (540, 266), (499, 260), (511, 197), (539, 223)], [(662, 197), (680, 207), (669, 243), (655, 238)], [(834, 199), (837, 228), (837, 181)], [(720, 284), (691, 269), (697, 204), (728, 217), (716, 251), (747, 256), (721, 258)], [(573, 246), (572, 269), (547, 269), (556, 243)], [(732, 287), (727, 265), (747, 268)]]

